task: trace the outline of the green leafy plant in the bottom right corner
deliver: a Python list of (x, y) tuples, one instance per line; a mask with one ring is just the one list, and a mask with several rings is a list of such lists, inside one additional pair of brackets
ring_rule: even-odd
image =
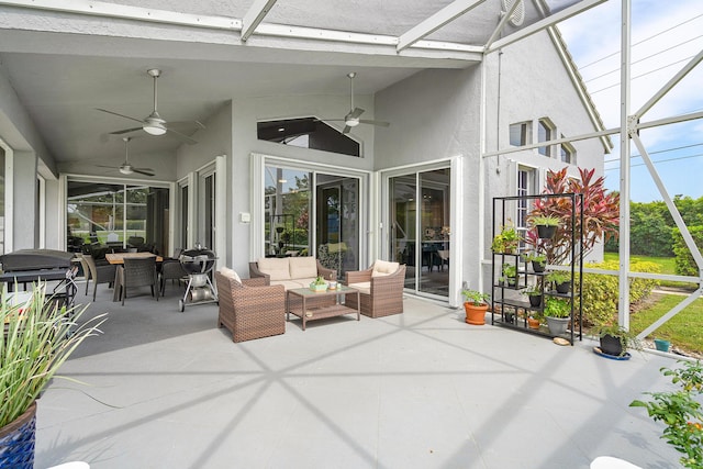
[(700, 395), (703, 393), (703, 367), (700, 361), (679, 361), (678, 369), (661, 368), (663, 376), (679, 386), (677, 391), (645, 392), (650, 401), (635, 400), (632, 407), (645, 407), (655, 422), (666, 425), (661, 438), (683, 456), (681, 466), (703, 468), (703, 413)]

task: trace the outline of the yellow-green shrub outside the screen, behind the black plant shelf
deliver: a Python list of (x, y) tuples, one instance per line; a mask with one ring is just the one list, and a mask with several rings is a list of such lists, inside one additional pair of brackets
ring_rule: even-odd
[[(617, 261), (589, 264), (589, 267), (603, 270), (617, 270)], [(634, 272), (658, 273), (660, 268), (655, 263), (633, 263), (629, 269)], [(581, 302), (583, 304), (583, 322), (587, 325), (605, 324), (612, 321), (617, 311), (617, 276), (584, 273)], [(629, 302), (635, 304), (651, 293), (659, 284), (658, 280), (629, 279)]]

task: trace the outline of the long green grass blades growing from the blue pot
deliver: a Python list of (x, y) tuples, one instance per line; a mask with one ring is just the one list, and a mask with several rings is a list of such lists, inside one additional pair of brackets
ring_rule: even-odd
[[(35, 286), (26, 302), (0, 297), (0, 427), (22, 415), (58, 368), (89, 336), (100, 333), (104, 314), (78, 325), (86, 308), (66, 309)], [(58, 376), (56, 376), (58, 377)]]

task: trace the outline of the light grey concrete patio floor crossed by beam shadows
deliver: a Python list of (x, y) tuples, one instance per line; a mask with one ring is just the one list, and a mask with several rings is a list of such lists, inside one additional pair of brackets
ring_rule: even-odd
[[(593, 354), (584, 339), (469, 326), (405, 299), (405, 313), (287, 323), (234, 344), (217, 306), (178, 312), (176, 289), (112, 303), (38, 402), (36, 468), (588, 468), (598, 456), (677, 468), (661, 427), (628, 403), (670, 386), (676, 361)], [(89, 297), (79, 292), (77, 301)]]

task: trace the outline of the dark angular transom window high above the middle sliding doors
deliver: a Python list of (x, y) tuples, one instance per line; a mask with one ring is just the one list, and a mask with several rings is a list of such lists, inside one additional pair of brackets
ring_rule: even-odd
[(256, 131), (260, 141), (361, 156), (358, 142), (315, 118), (257, 122)]

